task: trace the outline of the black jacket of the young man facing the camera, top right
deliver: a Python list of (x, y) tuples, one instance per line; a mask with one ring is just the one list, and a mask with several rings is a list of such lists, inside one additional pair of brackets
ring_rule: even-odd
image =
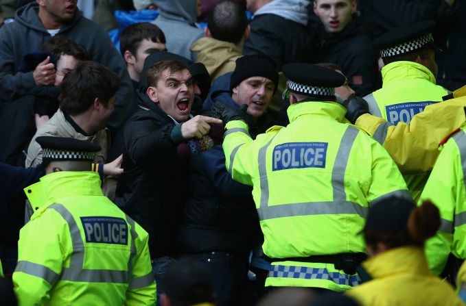
[(312, 62), (338, 64), (348, 78), (349, 86), (360, 97), (382, 86), (377, 51), (371, 46), (363, 18), (353, 14), (353, 20), (339, 33), (327, 33), (321, 20), (315, 15), (310, 20), (320, 39)]

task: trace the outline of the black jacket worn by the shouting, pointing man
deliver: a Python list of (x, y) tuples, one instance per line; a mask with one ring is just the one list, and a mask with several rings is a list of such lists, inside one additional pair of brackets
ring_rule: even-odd
[(144, 95), (124, 129), (123, 167), (117, 205), (149, 233), (152, 258), (173, 256), (180, 209), (187, 200), (188, 160), (178, 155), (175, 126)]

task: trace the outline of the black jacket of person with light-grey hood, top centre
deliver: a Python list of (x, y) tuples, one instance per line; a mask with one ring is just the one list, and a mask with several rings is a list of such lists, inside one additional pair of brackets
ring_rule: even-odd
[(281, 71), (284, 64), (303, 62), (316, 47), (312, 29), (274, 14), (255, 16), (243, 55), (268, 55)]

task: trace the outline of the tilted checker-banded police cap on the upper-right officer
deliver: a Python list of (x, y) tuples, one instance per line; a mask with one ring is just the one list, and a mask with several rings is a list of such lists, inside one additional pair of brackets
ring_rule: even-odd
[(423, 21), (412, 25), (398, 27), (373, 40), (373, 46), (380, 50), (382, 58), (407, 54), (425, 47), (434, 46), (432, 29), (434, 21)]

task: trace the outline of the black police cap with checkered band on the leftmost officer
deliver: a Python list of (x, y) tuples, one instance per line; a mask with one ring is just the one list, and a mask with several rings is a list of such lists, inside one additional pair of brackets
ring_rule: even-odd
[(89, 160), (94, 159), (94, 154), (102, 148), (84, 140), (75, 138), (39, 136), (36, 142), (42, 146), (43, 161), (55, 160)]

